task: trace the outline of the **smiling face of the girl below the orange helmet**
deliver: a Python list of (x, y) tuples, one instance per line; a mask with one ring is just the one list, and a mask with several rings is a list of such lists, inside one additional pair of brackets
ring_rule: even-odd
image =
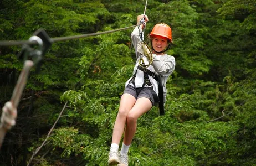
[[(167, 45), (168, 45), (168, 39), (166, 37), (161, 37), (158, 35), (153, 36), (152, 46), (155, 51), (161, 52), (166, 48)], [(160, 53), (159, 55), (163, 55), (163, 53)]]

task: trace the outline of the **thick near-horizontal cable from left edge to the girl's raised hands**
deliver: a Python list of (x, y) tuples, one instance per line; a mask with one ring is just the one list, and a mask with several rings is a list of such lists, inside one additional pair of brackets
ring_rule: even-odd
[[(132, 25), (130, 27), (120, 28), (120, 29), (114, 29), (114, 30), (108, 30), (105, 32), (98, 32), (98, 33), (89, 33), (89, 34), (82, 34), (82, 35), (74, 35), (74, 36), (68, 36), (68, 37), (57, 37), (57, 38), (51, 38), (52, 42), (61, 42), (65, 40), (70, 39), (79, 39), (79, 38), (85, 38), (85, 37), (92, 37), (96, 35), (106, 34), (106, 33), (112, 33), (117, 32), (120, 30), (129, 29), (132, 27), (136, 27), (141, 24)], [(23, 45), (23, 44), (38, 44), (37, 41), (28, 41), (28, 40), (2, 40), (0, 41), (0, 46), (14, 46), (14, 45)]]

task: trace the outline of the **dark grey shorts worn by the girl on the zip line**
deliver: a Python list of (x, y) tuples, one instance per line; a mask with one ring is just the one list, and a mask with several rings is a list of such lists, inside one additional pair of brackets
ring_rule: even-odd
[(125, 87), (123, 94), (130, 94), (136, 98), (146, 97), (149, 98), (149, 100), (152, 103), (152, 106), (155, 105), (155, 102), (159, 102), (158, 96), (155, 91), (153, 91), (152, 87), (133, 87), (131, 85), (127, 85)]

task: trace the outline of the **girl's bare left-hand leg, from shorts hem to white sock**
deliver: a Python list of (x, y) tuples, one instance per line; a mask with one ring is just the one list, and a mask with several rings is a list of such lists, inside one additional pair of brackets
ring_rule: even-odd
[(129, 111), (132, 109), (136, 102), (134, 96), (130, 94), (123, 94), (120, 100), (119, 111), (116, 117), (113, 134), (112, 143), (119, 144), (122, 134), (124, 133), (126, 118)]

